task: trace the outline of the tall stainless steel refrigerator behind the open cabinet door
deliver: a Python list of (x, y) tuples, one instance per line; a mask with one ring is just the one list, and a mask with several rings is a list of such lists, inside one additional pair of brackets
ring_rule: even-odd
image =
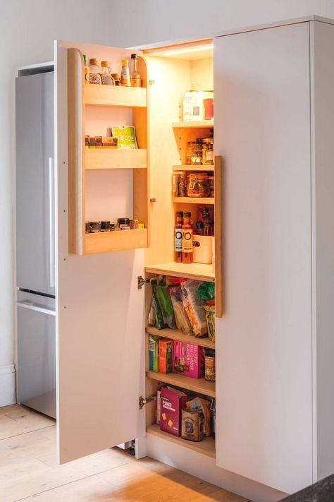
[(54, 72), (23, 74), (16, 78), (17, 400), (51, 417), (56, 417), (54, 194)]

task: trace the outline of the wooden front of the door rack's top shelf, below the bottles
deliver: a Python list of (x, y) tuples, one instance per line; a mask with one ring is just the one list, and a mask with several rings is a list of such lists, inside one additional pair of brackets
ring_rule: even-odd
[(102, 107), (146, 107), (147, 89), (122, 85), (83, 85), (83, 101)]

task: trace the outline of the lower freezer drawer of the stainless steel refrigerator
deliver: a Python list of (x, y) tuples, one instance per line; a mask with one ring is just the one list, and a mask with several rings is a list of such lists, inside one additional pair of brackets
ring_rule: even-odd
[(18, 402), (56, 418), (54, 311), (28, 299), (18, 301), (17, 309)]

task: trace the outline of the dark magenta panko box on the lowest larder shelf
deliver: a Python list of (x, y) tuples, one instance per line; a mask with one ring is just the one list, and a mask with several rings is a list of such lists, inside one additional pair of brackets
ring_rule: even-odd
[(180, 390), (161, 387), (160, 429), (174, 436), (181, 435), (181, 410), (185, 407), (187, 395)]

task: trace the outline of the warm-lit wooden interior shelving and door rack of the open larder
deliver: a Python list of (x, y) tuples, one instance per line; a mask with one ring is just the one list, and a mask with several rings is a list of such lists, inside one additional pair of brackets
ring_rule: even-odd
[[(136, 51), (142, 87), (127, 88), (85, 83), (83, 54), (119, 64), (133, 51), (68, 44), (68, 251), (70, 255), (97, 255), (144, 248), (145, 428), (147, 434), (211, 458), (215, 457), (212, 434), (193, 442), (161, 431), (156, 424), (156, 393), (161, 386), (175, 386), (202, 396), (214, 407), (214, 381), (206, 381), (204, 376), (149, 371), (148, 340), (149, 335), (167, 337), (196, 344), (201, 350), (214, 349), (214, 340), (185, 335), (178, 329), (159, 330), (147, 325), (147, 318), (151, 307), (149, 279), (161, 275), (214, 282), (216, 316), (222, 316), (221, 157), (214, 157), (212, 165), (205, 166), (189, 165), (186, 160), (187, 143), (212, 137), (214, 119), (183, 121), (182, 109), (185, 92), (214, 90), (213, 52), (212, 40)], [(139, 148), (85, 148), (85, 136), (106, 136), (111, 124), (135, 126)], [(190, 172), (214, 175), (214, 196), (180, 197), (173, 193), (173, 174), (181, 172), (185, 176)], [(190, 211), (194, 222), (200, 207), (208, 208), (214, 219), (214, 264), (176, 263), (175, 213)], [(115, 221), (124, 215), (144, 223), (144, 228), (85, 232), (87, 221)], [(141, 336), (140, 328), (133, 336)]]

